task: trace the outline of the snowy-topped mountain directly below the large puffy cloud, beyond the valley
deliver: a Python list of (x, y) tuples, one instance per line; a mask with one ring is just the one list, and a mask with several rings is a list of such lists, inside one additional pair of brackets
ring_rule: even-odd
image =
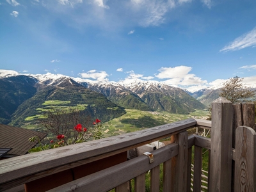
[(168, 111), (170, 113), (188, 114), (195, 109), (205, 109), (204, 104), (191, 97), (180, 88), (168, 86), (156, 81), (133, 80), (124, 84), (156, 111)]

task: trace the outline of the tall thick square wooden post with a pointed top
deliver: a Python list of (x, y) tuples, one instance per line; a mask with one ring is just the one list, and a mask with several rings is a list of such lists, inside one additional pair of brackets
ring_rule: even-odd
[(212, 102), (210, 191), (231, 191), (232, 102), (220, 97)]

